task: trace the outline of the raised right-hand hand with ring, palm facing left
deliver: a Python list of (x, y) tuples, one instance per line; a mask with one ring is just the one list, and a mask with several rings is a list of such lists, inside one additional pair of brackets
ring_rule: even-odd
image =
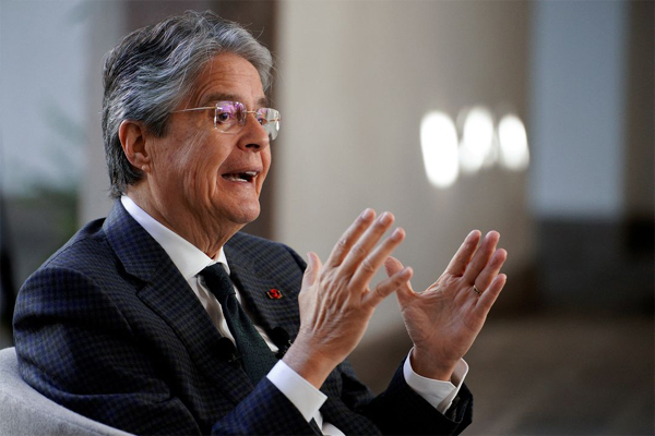
[[(410, 362), (417, 374), (450, 380), (483, 328), (507, 281), (505, 275), (499, 275), (507, 259), (507, 252), (496, 249), (499, 238), (498, 232), (489, 232), (476, 250), (480, 232), (471, 232), (443, 275), (425, 292), (414, 292), (409, 282), (396, 291), (414, 342)], [(384, 266), (389, 276), (403, 269), (393, 257)], [(474, 284), (481, 294), (474, 291)]]

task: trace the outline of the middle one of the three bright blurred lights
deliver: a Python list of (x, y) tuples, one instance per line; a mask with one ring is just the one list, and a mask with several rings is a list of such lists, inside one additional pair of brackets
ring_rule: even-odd
[(460, 164), (462, 171), (474, 173), (496, 162), (491, 154), (493, 146), (493, 116), (489, 109), (477, 106), (468, 111), (464, 120)]

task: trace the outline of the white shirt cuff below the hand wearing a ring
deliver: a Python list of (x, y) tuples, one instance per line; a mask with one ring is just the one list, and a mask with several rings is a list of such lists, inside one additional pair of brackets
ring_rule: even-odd
[(421, 396), (439, 412), (445, 413), (464, 384), (464, 378), (466, 378), (466, 374), (468, 374), (468, 364), (464, 362), (463, 359), (460, 360), (453, 372), (452, 383), (436, 380), (433, 378), (420, 376), (414, 372), (412, 363), (409, 362), (410, 354), (412, 351), (407, 354), (407, 359), (405, 359), (405, 364), (403, 366), (405, 382), (416, 391), (416, 393)]

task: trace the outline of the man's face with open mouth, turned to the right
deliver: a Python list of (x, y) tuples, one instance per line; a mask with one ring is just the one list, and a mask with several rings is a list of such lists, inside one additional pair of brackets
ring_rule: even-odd
[[(193, 89), (178, 110), (222, 100), (240, 101), (248, 110), (266, 107), (255, 68), (233, 53), (216, 56)], [(254, 220), (271, 166), (269, 136), (257, 119), (248, 114), (240, 132), (222, 133), (211, 110), (178, 112), (168, 129), (150, 147), (147, 177), (151, 199), (169, 227), (181, 233), (230, 233)]]

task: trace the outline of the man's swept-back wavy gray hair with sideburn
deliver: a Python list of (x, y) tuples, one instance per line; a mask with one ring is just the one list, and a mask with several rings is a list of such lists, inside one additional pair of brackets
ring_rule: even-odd
[(258, 70), (264, 92), (271, 85), (271, 52), (237, 23), (212, 11), (188, 11), (126, 36), (105, 60), (103, 140), (111, 187), (118, 198), (143, 177), (126, 157), (118, 129), (123, 120), (166, 134), (170, 112), (192, 92), (200, 71), (216, 55), (231, 52)]

